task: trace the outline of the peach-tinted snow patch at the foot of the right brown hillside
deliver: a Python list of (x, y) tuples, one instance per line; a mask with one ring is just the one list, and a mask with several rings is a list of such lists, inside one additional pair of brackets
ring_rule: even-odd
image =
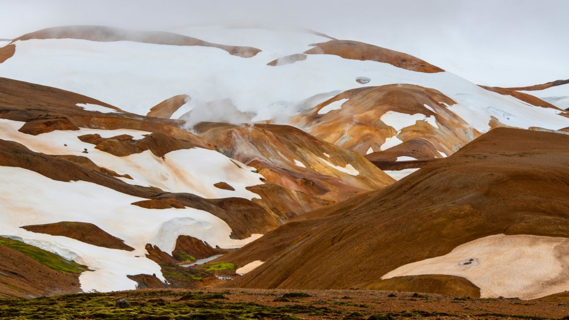
[(400, 266), (382, 279), (448, 274), (467, 278), (483, 298), (534, 299), (567, 289), (567, 253), (569, 239), (564, 237), (492, 235), (459, 245), (447, 255)]

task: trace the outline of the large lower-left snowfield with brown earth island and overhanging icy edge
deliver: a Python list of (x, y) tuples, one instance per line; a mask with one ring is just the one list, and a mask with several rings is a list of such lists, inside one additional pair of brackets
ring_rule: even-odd
[[(79, 278), (85, 291), (135, 289), (136, 282), (127, 278), (128, 274), (155, 273), (164, 280), (160, 266), (145, 257), (147, 243), (170, 253), (179, 235), (193, 236), (221, 248), (240, 247), (261, 236), (234, 240), (230, 238), (229, 225), (209, 212), (133, 206), (130, 203), (145, 199), (90, 182), (52, 180), (19, 167), (0, 166), (0, 188), (0, 235), (19, 237), (94, 269)], [(93, 223), (124, 240), (135, 251), (102, 248), (20, 228), (59, 221)]]

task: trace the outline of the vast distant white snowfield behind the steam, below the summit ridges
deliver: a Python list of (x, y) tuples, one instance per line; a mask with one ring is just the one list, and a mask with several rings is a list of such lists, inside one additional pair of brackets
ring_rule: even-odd
[[(201, 36), (215, 34), (216, 30), (215, 26), (193, 29)], [(316, 105), (304, 104), (301, 108), (301, 101), (361, 87), (355, 79), (366, 76), (371, 79), (368, 85), (405, 83), (437, 89), (456, 101), (450, 109), (480, 132), (490, 128), (492, 116), (502, 124), (519, 128), (559, 129), (569, 125), (569, 118), (556, 116), (553, 110), (487, 92), (450, 72), (415, 72), (377, 61), (318, 54), (290, 64), (267, 65), (281, 54), (302, 54), (312, 42), (328, 40), (322, 36), (259, 29), (224, 32), (217, 39), (211, 36), (207, 40), (234, 38), (232, 43), (243, 46), (250, 39), (251, 46), (264, 50), (251, 58), (241, 58), (203, 46), (19, 40), (14, 43), (14, 56), (0, 64), (0, 72), (6, 77), (79, 92), (138, 114), (146, 114), (164, 99), (181, 94), (191, 97), (182, 106), (185, 110), (230, 99), (238, 110), (256, 113), (253, 121), (292, 116)]]

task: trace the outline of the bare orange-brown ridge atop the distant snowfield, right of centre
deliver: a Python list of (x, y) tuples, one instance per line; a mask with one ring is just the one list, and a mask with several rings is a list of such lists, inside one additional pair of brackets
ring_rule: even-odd
[(372, 60), (389, 63), (398, 68), (411, 71), (435, 73), (444, 70), (435, 67), (414, 56), (394, 50), (374, 46), (373, 44), (352, 40), (330, 40), (328, 42), (312, 44), (314, 48), (305, 51), (309, 55), (337, 55), (344, 59)]

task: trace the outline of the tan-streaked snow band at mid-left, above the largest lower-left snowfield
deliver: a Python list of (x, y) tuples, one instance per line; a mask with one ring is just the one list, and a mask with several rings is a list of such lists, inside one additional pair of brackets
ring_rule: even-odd
[[(94, 145), (83, 142), (77, 137), (83, 134), (98, 133), (109, 138), (119, 134), (130, 134), (135, 139), (143, 138), (149, 132), (137, 130), (55, 130), (31, 136), (18, 132), (24, 122), (0, 119), (0, 139), (22, 143), (30, 150), (55, 155), (82, 155), (91, 159), (96, 165), (128, 174), (134, 180), (125, 182), (141, 186), (158, 187), (169, 192), (188, 192), (204, 198), (239, 197), (246, 199), (259, 198), (259, 195), (246, 190), (246, 187), (262, 184), (263, 176), (253, 173), (253, 168), (242, 163), (240, 169), (235, 160), (225, 157), (215, 150), (192, 148), (171, 151), (164, 159), (156, 157), (150, 150), (117, 157), (94, 148)], [(65, 146), (65, 144), (67, 146)], [(83, 153), (87, 149), (88, 153)], [(213, 184), (225, 181), (235, 191), (216, 188)]]

